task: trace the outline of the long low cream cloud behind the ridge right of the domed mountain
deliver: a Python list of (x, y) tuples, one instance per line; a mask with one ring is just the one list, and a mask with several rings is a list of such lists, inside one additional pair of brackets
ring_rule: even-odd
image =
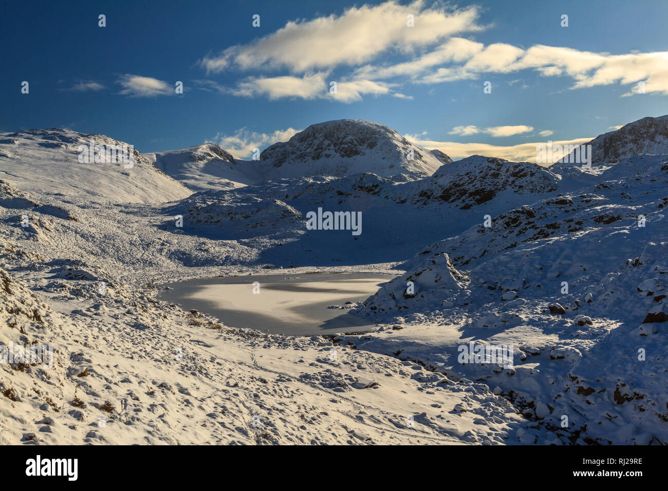
[[(501, 146), (490, 145), (486, 143), (458, 143), (458, 142), (436, 142), (433, 140), (421, 140), (413, 135), (406, 134), (404, 137), (425, 148), (438, 149), (444, 152), (454, 160), (466, 158), (471, 155), (484, 155), (492, 157), (505, 158), (514, 162), (536, 162), (538, 150), (536, 146), (546, 145), (547, 142), (522, 143), (518, 145)], [(575, 140), (563, 140), (552, 142), (552, 145), (580, 145), (591, 141), (592, 138), (576, 138)]]

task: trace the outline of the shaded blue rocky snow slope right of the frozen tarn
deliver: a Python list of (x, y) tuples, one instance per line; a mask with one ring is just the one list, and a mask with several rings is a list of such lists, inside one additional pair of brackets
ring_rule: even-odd
[[(425, 247), (359, 311), (437, 326), (357, 347), (498, 385), (543, 428), (524, 440), (551, 442), (544, 431), (567, 415), (561, 443), (665, 442), (668, 392), (648, 373), (668, 369), (668, 155), (635, 156), (600, 177)], [(512, 343), (514, 368), (457, 363), (472, 337)]]

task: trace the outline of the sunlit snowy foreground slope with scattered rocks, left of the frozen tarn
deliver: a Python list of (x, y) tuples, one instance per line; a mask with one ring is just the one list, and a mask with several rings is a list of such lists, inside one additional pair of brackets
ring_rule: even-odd
[(522, 424), (484, 384), (158, 301), (156, 283), (243, 274), (254, 251), (152, 226), (173, 205), (71, 219), (40, 204), (59, 198), (0, 185), (0, 343), (53, 347), (50, 366), (0, 365), (3, 445), (503, 444)]

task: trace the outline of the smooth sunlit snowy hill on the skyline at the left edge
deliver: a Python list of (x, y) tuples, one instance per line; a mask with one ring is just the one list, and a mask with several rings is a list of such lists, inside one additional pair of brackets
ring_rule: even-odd
[[(98, 146), (104, 146), (108, 162), (96, 162), (102, 155)], [(123, 148), (128, 162), (123, 161)], [(112, 149), (121, 152), (112, 154)], [(191, 194), (125, 142), (59, 128), (0, 134), (0, 178), (29, 192), (120, 203), (158, 203)]]

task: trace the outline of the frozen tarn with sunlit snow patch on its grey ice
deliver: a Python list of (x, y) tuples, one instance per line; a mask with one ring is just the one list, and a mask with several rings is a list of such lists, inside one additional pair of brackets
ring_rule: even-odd
[(373, 327), (347, 308), (392, 278), (341, 273), (195, 279), (167, 285), (161, 299), (215, 315), (230, 327), (293, 336), (334, 334)]

